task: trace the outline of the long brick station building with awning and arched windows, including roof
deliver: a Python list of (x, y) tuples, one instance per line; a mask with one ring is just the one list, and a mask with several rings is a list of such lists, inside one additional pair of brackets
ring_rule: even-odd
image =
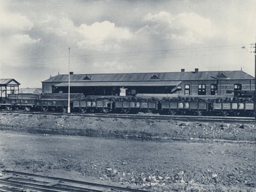
[[(172, 96), (234, 95), (253, 91), (254, 78), (239, 71), (185, 71), (165, 73), (74, 74), (70, 72), (70, 92), (84, 95)], [(68, 75), (56, 75), (42, 82), (43, 93), (68, 92)]]

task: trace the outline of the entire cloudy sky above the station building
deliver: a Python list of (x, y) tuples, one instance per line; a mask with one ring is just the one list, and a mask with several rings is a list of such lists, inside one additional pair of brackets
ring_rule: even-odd
[(254, 76), (255, 0), (0, 1), (0, 78), (243, 70)]

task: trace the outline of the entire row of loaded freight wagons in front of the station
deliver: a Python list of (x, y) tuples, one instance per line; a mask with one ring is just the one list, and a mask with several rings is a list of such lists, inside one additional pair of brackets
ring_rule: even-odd
[[(236, 95), (243, 95), (236, 92)], [(146, 98), (137, 96), (84, 96), (70, 94), (71, 112), (125, 113), (151, 112), (171, 115), (240, 115), (252, 116), (253, 95), (233, 98)], [(67, 112), (68, 94), (9, 94), (0, 103), (2, 110)]]

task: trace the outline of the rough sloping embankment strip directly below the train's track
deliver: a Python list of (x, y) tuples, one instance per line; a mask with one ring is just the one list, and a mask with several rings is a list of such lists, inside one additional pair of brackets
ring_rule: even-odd
[(67, 115), (0, 114), (0, 129), (27, 133), (134, 140), (230, 140), (256, 142), (255, 124), (158, 121)]

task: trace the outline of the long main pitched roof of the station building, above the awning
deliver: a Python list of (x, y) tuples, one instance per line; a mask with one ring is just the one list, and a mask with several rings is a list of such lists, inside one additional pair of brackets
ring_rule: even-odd
[[(223, 75), (225, 76), (223, 76)], [(157, 75), (159, 79), (152, 79)], [(85, 77), (91, 80), (84, 80)], [(102, 74), (77, 74), (70, 75), (70, 82), (128, 82), (128, 81), (159, 81), (159, 80), (214, 80), (227, 77), (227, 79), (253, 79), (244, 71), (195, 71), (190, 72), (166, 72), (166, 73), (102, 73)], [(68, 75), (56, 75), (44, 82), (68, 82)]]

